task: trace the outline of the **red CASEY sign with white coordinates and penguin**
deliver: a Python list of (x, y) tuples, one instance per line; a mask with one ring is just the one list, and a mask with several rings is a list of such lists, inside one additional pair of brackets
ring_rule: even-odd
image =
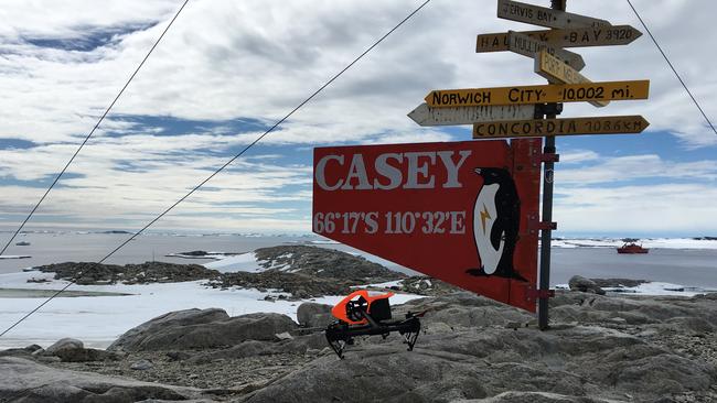
[(313, 231), (535, 312), (541, 145), (314, 149)]

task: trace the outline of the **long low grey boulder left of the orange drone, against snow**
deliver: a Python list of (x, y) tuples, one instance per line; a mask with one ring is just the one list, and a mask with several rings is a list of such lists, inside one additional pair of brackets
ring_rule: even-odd
[(275, 340), (297, 324), (280, 314), (249, 314), (229, 317), (217, 308), (172, 312), (128, 330), (109, 351), (157, 351), (216, 348), (245, 340)]

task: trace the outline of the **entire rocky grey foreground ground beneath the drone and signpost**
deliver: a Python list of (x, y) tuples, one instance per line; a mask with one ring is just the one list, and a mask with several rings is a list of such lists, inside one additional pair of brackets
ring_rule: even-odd
[[(470, 293), (414, 299), (394, 307), (428, 311), (414, 351), (372, 337), (344, 360), (282, 315), (190, 309), (128, 331), (109, 356), (72, 340), (0, 353), (0, 401), (717, 402), (717, 294), (560, 291), (550, 305), (541, 331)], [(299, 320), (325, 324), (329, 308), (309, 304)]]

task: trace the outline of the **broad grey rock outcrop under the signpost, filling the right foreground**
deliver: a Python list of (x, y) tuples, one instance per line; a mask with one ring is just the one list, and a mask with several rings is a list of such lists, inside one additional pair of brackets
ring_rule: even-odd
[[(344, 360), (320, 357), (245, 401), (602, 403), (717, 396), (717, 360), (663, 342), (694, 331), (676, 329), (675, 318), (714, 318), (717, 304), (708, 296), (655, 301), (567, 292), (556, 299), (557, 317), (565, 314), (561, 307), (575, 307), (585, 323), (556, 318), (550, 330), (541, 331), (532, 315), (469, 293), (415, 299), (396, 307), (397, 313), (429, 309), (414, 351), (393, 335), (358, 339)], [(621, 309), (645, 325), (612, 320), (624, 315)], [(643, 326), (654, 326), (654, 334), (640, 334)]]

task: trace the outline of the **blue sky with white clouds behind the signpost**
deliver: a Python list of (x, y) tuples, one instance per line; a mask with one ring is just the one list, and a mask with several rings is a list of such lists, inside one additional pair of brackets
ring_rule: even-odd
[[(421, 2), (190, 0), (26, 229), (143, 227)], [(0, 3), (0, 230), (24, 219), (181, 3)], [(717, 3), (633, 4), (717, 121)], [(627, 1), (567, 8), (644, 34), (571, 48), (585, 76), (651, 88), (649, 100), (567, 104), (563, 117), (642, 115), (650, 127), (557, 138), (555, 236), (717, 235), (717, 134)], [(470, 140), (468, 126), (420, 128), (406, 113), (432, 89), (545, 84), (531, 58), (474, 52), (479, 33), (539, 29), (495, 13), (495, 0), (432, 0), (152, 230), (309, 233), (314, 146)]]

